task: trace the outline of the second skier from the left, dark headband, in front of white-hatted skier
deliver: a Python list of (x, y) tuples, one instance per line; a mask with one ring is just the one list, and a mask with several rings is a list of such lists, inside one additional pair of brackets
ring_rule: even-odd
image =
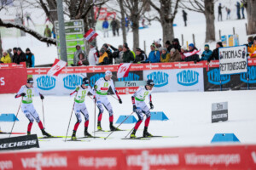
[(93, 89), (90, 88), (90, 86), (89, 86), (88, 78), (84, 77), (82, 85), (80, 85), (78, 88), (76, 88), (72, 94), (70, 94), (70, 95), (73, 95), (73, 94), (77, 93), (74, 98), (73, 111), (75, 111), (75, 115), (77, 116), (78, 122), (76, 122), (75, 126), (73, 127), (72, 139), (76, 139), (77, 129), (79, 127), (80, 122), (82, 122), (80, 112), (84, 115), (84, 119), (85, 119), (84, 136), (92, 137), (91, 134), (88, 133), (88, 131), (87, 131), (88, 125), (89, 125), (89, 114), (86, 109), (86, 105), (84, 104), (84, 98), (88, 94), (88, 92), (90, 92), (90, 94), (92, 94), (92, 95), (95, 95)]

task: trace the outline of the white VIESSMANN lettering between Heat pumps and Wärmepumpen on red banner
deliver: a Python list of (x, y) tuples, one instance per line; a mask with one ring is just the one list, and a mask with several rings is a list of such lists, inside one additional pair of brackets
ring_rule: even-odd
[(178, 165), (178, 154), (155, 154), (149, 155), (147, 150), (143, 150), (141, 155), (127, 156), (127, 166), (143, 167), (143, 170), (149, 170), (150, 166)]

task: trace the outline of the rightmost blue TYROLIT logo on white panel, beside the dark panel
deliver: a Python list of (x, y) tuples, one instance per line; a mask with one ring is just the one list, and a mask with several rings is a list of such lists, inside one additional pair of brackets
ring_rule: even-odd
[(198, 83), (198, 77), (197, 71), (180, 71), (177, 73), (177, 83), (182, 86), (193, 86)]

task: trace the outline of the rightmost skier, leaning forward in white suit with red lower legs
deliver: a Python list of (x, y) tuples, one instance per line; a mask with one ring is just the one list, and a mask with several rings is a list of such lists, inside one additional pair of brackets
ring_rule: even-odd
[(152, 134), (148, 133), (148, 124), (150, 121), (150, 111), (145, 103), (145, 98), (148, 96), (150, 109), (154, 109), (154, 105), (151, 100), (152, 88), (154, 87), (153, 80), (148, 80), (146, 86), (141, 86), (137, 91), (132, 94), (131, 100), (133, 105), (133, 111), (137, 113), (138, 121), (131, 133), (131, 138), (136, 138), (136, 131), (140, 124), (143, 122), (143, 113), (147, 116), (145, 121), (145, 127), (143, 131), (143, 137), (152, 137)]

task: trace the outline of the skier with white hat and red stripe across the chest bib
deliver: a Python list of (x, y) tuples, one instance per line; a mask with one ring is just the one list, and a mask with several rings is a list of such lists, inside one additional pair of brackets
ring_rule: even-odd
[(119, 99), (119, 104), (122, 104), (122, 100), (119, 97), (119, 94), (117, 93), (116, 89), (113, 86), (113, 80), (111, 79), (112, 72), (106, 71), (105, 77), (100, 78), (95, 83), (95, 90), (96, 90), (96, 105), (99, 109), (99, 115), (98, 115), (98, 123), (97, 123), (97, 129), (102, 130), (101, 121), (102, 121), (102, 113), (104, 111), (102, 105), (107, 109), (109, 113), (109, 123), (110, 123), (110, 130), (116, 131), (119, 130), (119, 128), (113, 126), (113, 110), (110, 102), (108, 101), (108, 89), (109, 87), (112, 88), (112, 91)]

